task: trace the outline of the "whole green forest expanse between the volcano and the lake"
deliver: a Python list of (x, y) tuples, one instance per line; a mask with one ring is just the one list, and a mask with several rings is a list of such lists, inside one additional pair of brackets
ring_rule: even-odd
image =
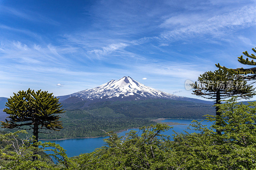
[[(63, 129), (49, 134), (40, 133), (40, 139), (104, 136), (102, 130), (117, 132), (149, 126), (156, 124), (150, 121), (155, 118), (203, 119), (203, 115), (214, 115), (215, 111), (209, 104), (168, 99), (105, 101), (87, 107), (83, 107), (84, 102), (61, 104), (66, 111), (60, 114)], [(15, 131), (15, 129), (1, 130)]]

